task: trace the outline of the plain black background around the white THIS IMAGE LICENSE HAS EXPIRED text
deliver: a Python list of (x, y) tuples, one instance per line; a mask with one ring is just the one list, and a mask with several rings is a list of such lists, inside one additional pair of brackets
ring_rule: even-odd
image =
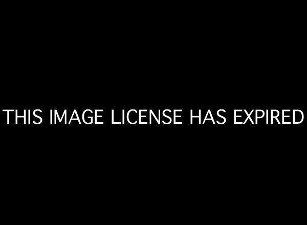
[[(185, 124), (2, 123), (7, 212), (158, 221), (300, 213), (305, 122), (232, 124), (235, 108), (305, 113), (297, 9), (50, 7), (4, 15), (1, 109), (182, 108)], [(226, 125), (188, 125), (189, 109), (219, 108)]]

